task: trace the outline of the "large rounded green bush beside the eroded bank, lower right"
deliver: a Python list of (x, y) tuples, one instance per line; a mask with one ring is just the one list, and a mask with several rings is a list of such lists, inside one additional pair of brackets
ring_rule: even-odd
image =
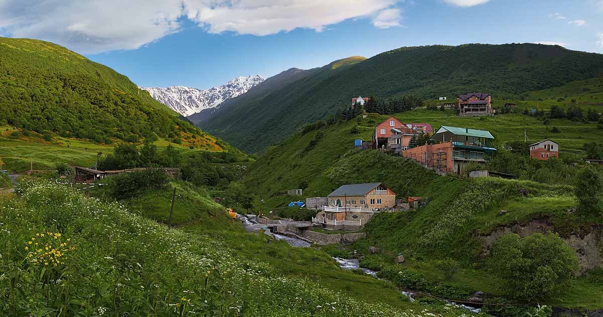
[(507, 234), (494, 243), (491, 268), (514, 298), (532, 301), (561, 292), (578, 272), (578, 258), (558, 235)]

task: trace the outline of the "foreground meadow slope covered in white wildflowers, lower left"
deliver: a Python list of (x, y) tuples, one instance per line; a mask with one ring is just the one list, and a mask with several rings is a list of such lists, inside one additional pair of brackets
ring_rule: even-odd
[[(0, 280), (0, 303), (13, 315), (30, 310), (42, 315), (48, 307), (68, 315), (95, 315), (99, 307), (109, 315), (172, 315), (181, 305), (189, 313), (233, 315), (233, 307), (238, 307), (245, 316), (384, 316), (426, 308), (410, 303), (389, 283), (341, 271), (315, 249), (267, 243), (262, 234), (207, 234), (198, 226), (186, 227), (188, 232), (166, 231), (136, 216), (136, 211), (88, 199), (60, 185), (26, 185), (23, 190), (23, 197), (0, 199), (7, 243), (0, 251), (0, 268), (16, 281)], [(31, 210), (36, 213), (22, 217)], [(59, 228), (52, 220), (57, 217)], [(36, 232), (48, 231), (60, 232), (58, 240), (77, 251), (63, 252), (63, 264), (42, 270), (42, 264), (24, 260), (25, 246), (45, 239), (33, 240)], [(45, 274), (64, 282), (37, 283)], [(39, 286), (47, 283), (52, 294), (48, 302)], [(461, 313), (428, 308), (444, 316)]]

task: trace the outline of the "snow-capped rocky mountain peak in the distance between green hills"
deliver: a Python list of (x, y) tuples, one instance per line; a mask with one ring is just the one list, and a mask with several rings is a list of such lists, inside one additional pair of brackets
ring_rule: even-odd
[(254, 75), (249, 77), (236, 77), (226, 85), (200, 90), (185, 86), (140, 87), (179, 114), (188, 117), (204, 109), (218, 106), (229, 98), (245, 94), (251, 87), (264, 82), (264, 77)]

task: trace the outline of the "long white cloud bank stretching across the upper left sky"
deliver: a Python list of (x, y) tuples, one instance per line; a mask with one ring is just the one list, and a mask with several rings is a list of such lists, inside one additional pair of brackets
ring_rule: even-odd
[(139, 48), (180, 31), (185, 19), (209, 33), (257, 36), (323, 31), (352, 18), (396, 27), (402, 19), (398, 2), (403, 0), (0, 0), (0, 31), (99, 53)]

